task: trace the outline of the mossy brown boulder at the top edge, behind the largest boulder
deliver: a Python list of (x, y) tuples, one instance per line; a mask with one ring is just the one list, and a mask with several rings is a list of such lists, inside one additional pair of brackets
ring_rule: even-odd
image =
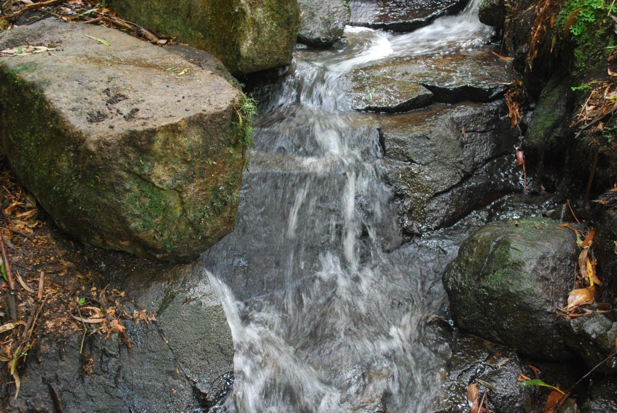
[(120, 17), (177, 36), (234, 75), (288, 65), (299, 25), (297, 0), (113, 0)]

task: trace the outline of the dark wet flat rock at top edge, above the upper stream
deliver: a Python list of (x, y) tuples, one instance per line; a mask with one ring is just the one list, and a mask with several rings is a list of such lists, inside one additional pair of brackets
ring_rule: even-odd
[(466, 0), (352, 0), (351, 25), (412, 31), (444, 14), (463, 10)]

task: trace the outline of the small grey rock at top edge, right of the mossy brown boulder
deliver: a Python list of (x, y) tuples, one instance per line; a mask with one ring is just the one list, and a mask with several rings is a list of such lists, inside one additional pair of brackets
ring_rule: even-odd
[(340, 39), (349, 24), (350, 9), (342, 0), (298, 0), (300, 31), (298, 43), (328, 47)]

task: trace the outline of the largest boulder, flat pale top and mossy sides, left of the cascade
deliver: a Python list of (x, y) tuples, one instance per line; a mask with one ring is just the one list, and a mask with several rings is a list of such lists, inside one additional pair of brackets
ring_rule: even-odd
[(62, 229), (169, 261), (233, 230), (254, 108), (239, 89), (99, 26), (43, 20), (0, 33), (9, 46), (22, 55), (0, 57), (2, 146)]

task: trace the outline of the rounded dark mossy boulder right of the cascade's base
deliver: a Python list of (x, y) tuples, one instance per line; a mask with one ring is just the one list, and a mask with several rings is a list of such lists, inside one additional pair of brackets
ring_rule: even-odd
[(459, 327), (532, 358), (571, 358), (555, 311), (573, 288), (578, 248), (558, 224), (500, 221), (463, 243), (443, 276)]

